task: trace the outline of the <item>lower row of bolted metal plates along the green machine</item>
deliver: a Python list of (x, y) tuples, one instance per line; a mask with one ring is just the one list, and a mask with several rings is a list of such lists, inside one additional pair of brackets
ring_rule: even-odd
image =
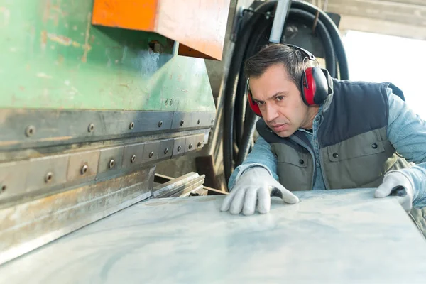
[[(175, 149), (177, 155), (182, 155), (177, 151), (179, 147), (181, 153), (200, 150), (204, 135), (202, 132), (176, 139), (152, 138), (141, 143), (124, 141), (119, 146), (77, 148), (67, 153), (49, 153), (40, 158), (0, 163), (0, 207), (53, 195), (87, 182), (125, 175), (173, 158)], [(191, 148), (185, 150), (185, 145)]]

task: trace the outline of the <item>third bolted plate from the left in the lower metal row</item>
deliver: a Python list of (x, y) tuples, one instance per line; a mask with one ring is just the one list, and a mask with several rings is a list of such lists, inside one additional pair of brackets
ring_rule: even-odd
[[(100, 151), (87, 151), (70, 155), (67, 181), (91, 180), (97, 174)], [(84, 171), (84, 169), (86, 169)]]

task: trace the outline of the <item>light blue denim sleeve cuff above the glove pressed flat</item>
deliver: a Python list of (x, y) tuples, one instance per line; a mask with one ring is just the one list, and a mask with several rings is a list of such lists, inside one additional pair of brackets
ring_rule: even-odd
[(275, 180), (278, 180), (277, 158), (271, 151), (271, 145), (261, 136), (257, 138), (256, 143), (254, 143), (253, 149), (251, 149), (251, 152), (247, 155), (246, 160), (244, 160), (244, 162), (231, 174), (228, 182), (229, 192), (231, 192), (232, 188), (234, 188), (236, 181), (244, 173), (244, 171), (254, 167), (265, 168), (273, 176), (273, 178), (275, 178)]

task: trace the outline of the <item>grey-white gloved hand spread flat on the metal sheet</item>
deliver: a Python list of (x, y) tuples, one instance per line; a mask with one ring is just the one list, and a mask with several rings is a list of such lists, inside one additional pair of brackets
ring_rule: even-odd
[(258, 211), (266, 214), (271, 209), (271, 196), (278, 196), (290, 204), (299, 202), (297, 196), (286, 190), (268, 170), (262, 167), (251, 168), (239, 177), (234, 190), (225, 197), (221, 211), (229, 210), (231, 214), (239, 214), (242, 209), (244, 215), (251, 215), (258, 199)]

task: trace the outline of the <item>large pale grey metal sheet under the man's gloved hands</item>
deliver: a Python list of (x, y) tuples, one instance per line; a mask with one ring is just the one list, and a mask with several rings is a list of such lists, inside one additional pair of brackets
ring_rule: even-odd
[(373, 190), (295, 192), (269, 214), (224, 196), (148, 200), (0, 266), (0, 283), (425, 283), (426, 241)]

